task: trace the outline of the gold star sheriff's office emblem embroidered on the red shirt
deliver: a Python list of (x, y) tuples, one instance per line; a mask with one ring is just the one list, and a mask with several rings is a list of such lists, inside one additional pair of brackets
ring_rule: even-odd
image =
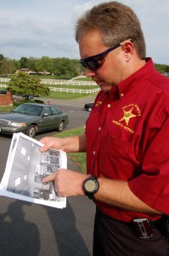
[(112, 120), (112, 122), (115, 125), (118, 125), (121, 128), (123, 128), (131, 133), (134, 133), (134, 131), (131, 128), (129, 128), (128, 125), (129, 125), (129, 122), (131, 119), (141, 116), (140, 108), (138, 107), (137, 104), (132, 103), (132, 104), (128, 104), (127, 106), (123, 107), (122, 111), (124, 113), (123, 117), (118, 121)]

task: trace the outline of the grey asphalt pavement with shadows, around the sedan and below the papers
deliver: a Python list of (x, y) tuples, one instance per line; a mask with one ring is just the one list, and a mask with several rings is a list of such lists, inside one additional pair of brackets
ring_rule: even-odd
[[(88, 112), (82, 101), (50, 102), (69, 114), (66, 130), (85, 125)], [(74, 107), (74, 106), (76, 107)], [(38, 134), (39, 140), (56, 131)], [(0, 179), (3, 177), (10, 136), (0, 135)], [(68, 161), (68, 168), (77, 169)], [(0, 255), (1, 256), (89, 256), (93, 246), (95, 207), (86, 197), (67, 198), (63, 210), (0, 197)]]

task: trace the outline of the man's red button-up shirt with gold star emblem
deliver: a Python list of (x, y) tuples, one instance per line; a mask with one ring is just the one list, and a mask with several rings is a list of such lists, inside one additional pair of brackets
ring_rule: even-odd
[[(128, 181), (140, 200), (169, 213), (169, 79), (155, 71), (151, 59), (109, 95), (99, 92), (86, 136), (88, 174)], [(123, 221), (159, 217), (95, 203)]]

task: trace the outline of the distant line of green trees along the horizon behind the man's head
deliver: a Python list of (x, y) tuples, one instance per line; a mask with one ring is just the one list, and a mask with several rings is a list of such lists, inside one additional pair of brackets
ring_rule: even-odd
[[(85, 72), (84, 67), (76, 59), (23, 56), (20, 60), (12, 60), (0, 54), (0, 75), (14, 74), (20, 68), (28, 68), (36, 73), (48, 72), (62, 78), (73, 78)], [(155, 63), (155, 69), (160, 73), (169, 72), (169, 66), (166, 64)]]

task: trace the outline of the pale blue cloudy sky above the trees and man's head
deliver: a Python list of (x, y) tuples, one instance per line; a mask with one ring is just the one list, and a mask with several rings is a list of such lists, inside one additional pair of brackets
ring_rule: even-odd
[[(48, 56), (79, 59), (76, 20), (85, 10), (107, 0), (0, 0), (0, 54), (10, 59)], [(147, 56), (169, 65), (169, 1), (119, 0), (141, 22)]]

